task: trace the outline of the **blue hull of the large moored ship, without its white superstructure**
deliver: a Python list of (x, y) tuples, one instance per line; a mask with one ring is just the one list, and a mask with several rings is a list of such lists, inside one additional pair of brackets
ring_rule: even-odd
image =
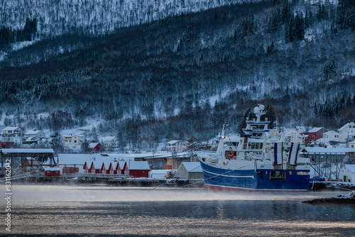
[(273, 175), (275, 170), (225, 170), (200, 162), (204, 175), (204, 185), (222, 190), (261, 190), (261, 191), (307, 191), (310, 175), (297, 173), (309, 170), (278, 170), (280, 177)]

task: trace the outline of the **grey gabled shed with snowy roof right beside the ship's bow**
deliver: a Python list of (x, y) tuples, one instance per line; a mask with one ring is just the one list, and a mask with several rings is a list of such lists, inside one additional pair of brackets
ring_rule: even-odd
[(202, 167), (200, 162), (182, 162), (176, 171), (179, 180), (185, 180), (190, 183), (203, 180)]

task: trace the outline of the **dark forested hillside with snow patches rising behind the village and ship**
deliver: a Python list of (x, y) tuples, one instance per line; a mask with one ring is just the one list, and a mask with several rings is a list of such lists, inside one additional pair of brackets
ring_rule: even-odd
[(60, 131), (95, 119), (95, 132), (122, 148), (154, 148), (212, 138), (224, 122), (238, 132), (257, 104), (278, 127), (335, 129), (355, 118), (352, 0), (232, 4), (102, 34), (63, 26), (38, 35), (43, 20), (25, 21), (0, 22), (8, 125)]

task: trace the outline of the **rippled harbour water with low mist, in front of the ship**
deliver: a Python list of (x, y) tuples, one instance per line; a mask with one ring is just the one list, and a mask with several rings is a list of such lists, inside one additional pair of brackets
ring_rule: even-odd
[[(339, 193), (14, 184), (11, 233), (18, 236), (353, 236), (355, 206), (301, 203)], [(5, 233), (4, 228), (0, 233)]]

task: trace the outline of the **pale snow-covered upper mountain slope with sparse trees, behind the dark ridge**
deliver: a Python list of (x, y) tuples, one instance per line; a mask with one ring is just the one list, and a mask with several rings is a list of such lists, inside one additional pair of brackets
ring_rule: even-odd
[(115, 28), (218, 6), (260, 0), (29, 0), (0, 1), (0, 26), (23, 28), (38, 19), (38, 36), (84, 33), (100, 35)]

